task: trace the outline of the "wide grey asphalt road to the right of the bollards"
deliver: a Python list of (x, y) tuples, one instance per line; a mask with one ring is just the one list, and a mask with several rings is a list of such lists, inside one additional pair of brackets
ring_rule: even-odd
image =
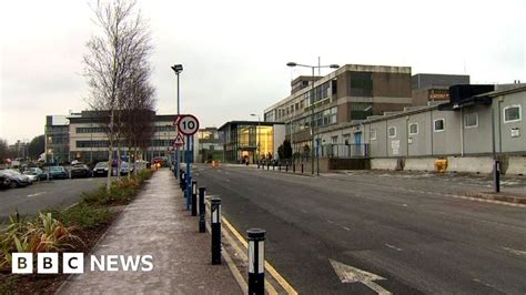
[[(266, 258), (300, 293), (526, 293), (526, 208), (454, 196), (487, 190), (484, 179), (195, 172), (241, 233), (267, 231)], [(507, 185), (524, 189), (520, 181)], [(352, 283), (367, 281), (355, 269), (342, 283), (331, 261), (371, 273), (372, 283)]]

